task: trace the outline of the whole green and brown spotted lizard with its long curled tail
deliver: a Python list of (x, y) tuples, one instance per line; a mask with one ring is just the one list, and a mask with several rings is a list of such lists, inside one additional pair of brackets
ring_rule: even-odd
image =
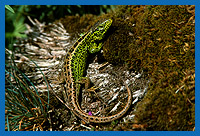
[(119, 113), (108, 116), (108, 117), (97, 117), (88, 115), (83, 112), (78, 103), (78, 96), (81, 85), (79, 81), (85, 77), (84, 73), (86, 71), (86, 62), (89, 53), (96, 53), (101, 50), (102, 39), (112, 24), (112, 20), (108, 19), (103, 23), (97, 25), (97, 27), (90, 29), (82, 37), (80, 37), (75, 44), (68, 51), (65, 63), (64, 63), (64, 78), (66, 81), (68, 103), (70, 105), (70, 110), (83, 119), (85, 122), (94, 122), (94, 123), (106, 123), (116, 120), (123, 116), (131, 105), (131, 91), (128, 91), (128, 102)]

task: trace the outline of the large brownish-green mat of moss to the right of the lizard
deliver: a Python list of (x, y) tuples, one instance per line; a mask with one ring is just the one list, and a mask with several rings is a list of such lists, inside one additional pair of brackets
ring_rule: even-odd
[(104, 56), (110, 63), (127, 63), (149, 75), (148, 93), (135, 118), (147, 130), (194, 128), (195, 29), (188, 9), (124, 6), (113, 17)]

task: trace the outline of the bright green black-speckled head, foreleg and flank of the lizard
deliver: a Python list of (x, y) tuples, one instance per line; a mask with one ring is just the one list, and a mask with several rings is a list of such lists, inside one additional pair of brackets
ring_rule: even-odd
[(77, 46), (74, 47), (76, 49), (70, 49), (70, 51), (73, 52), (71, 59), (71, 69), (75, 81), (80, 80), (85, 73), (88, 54), (96, 53), (101, 50), (101, 47), (103, 46), (101, 40), (104, 38), (104, 35), (111, 24), (112, 20), (108, 19), (99, 24), (96, 28), (90, 29), (78, 40)]

